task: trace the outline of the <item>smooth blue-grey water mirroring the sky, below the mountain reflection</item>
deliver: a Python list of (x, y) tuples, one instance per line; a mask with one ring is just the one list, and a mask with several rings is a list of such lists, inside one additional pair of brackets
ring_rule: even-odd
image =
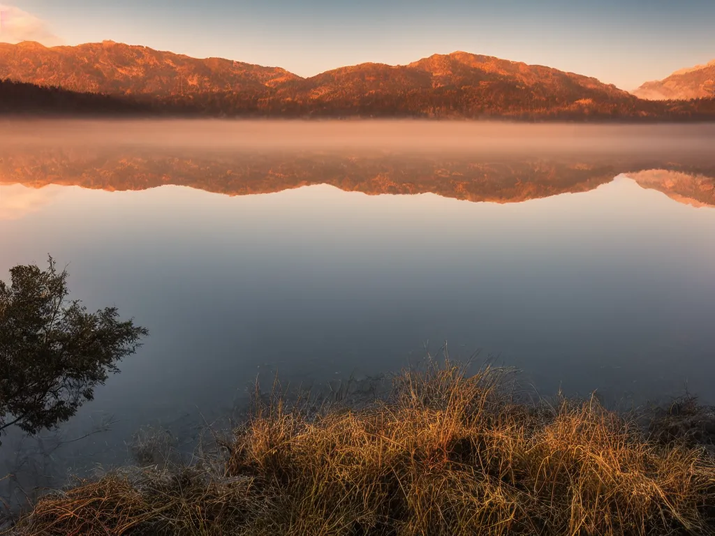
[(627, 174), (501, 203), (4, 180), (0, 273), (52, 254), (73, 297), (151, 330), (74, 421), (113, 415), (104, 445), (217, 415), (259, 375), (378, 374), (444, 341), (548, 394), (715, 402), (715, 208)]

